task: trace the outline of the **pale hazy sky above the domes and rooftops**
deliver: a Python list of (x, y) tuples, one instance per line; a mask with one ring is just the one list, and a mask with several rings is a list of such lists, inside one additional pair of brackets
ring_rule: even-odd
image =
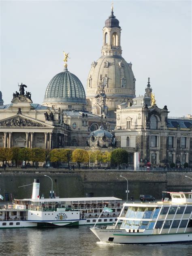
[[(114, 2), (122, 28), (122, 56), (132, 62), (136, 95), (147, 78), (156, 104), (169, 116), (192, 114), (191, 1)], [(68, 70), (85, 87), (91, 63), (101, 55), (102, 28), (111, 1), (1, 1), (0, 90), (4, 104), (23, 82), (34, 103), (43, 102), (51, 78)]]

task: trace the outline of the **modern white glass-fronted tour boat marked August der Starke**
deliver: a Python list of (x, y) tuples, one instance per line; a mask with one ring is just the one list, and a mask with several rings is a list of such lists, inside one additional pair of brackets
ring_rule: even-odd
[(163, 193), (169, 194), (171, 200), (124, 203), (115, 225), (90, 229), (100, 241), (107, 243), (191, 243), (192, 192)]

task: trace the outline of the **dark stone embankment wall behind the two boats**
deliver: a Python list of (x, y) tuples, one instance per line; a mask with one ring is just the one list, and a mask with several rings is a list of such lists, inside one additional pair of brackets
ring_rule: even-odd
[(116, 196), (126, 199), (128, 179), (129, 198), (139, 199), (140, 194), (162, 197), (162, 191), (191, 191), (192, 172), (186, 171), (117, 171), (117, 170), (75, 170), (61, 169), (6, 169), (0, 174), (0, 194), (6, 200), (13, 198), (31, 198), (34, 179), (40, 179), (40, 196), (49, 197), (51, 180), (53, 190), (60, 197), (83, 197), (92, 193), (94, 196)]

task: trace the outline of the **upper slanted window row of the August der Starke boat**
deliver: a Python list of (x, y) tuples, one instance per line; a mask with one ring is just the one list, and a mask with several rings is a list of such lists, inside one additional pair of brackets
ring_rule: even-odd
[(165, 207), (135, 207), (130, 206), (126, 212), (126, 218), (130, 219), (156, 219), (158, 214), (189, 214), (192, 212), (192, 206), (165, 206)]

